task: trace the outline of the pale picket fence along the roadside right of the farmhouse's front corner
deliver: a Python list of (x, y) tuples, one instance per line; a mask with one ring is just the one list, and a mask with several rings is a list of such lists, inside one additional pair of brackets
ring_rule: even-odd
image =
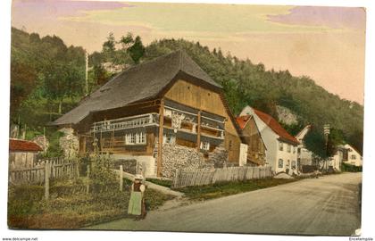
[(221, 169), (178, 169), (172, 187), (203, 186), (221, 181), (271, 178), (271, 167), (228, 167)]

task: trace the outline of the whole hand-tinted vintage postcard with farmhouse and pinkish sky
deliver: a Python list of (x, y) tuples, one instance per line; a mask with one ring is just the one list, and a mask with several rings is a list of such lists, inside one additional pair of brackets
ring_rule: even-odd
[(361, 235), (365, 33), (362, 7), (13, 0), (8, 228)]

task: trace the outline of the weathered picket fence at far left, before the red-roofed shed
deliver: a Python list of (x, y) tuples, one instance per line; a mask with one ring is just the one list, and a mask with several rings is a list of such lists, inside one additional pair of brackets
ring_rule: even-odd
[(71, 179), (79, 175), (77, 162), (54, 159), (33, 167), (9, 170), (9, 183), (12, 185), (44, 184), (46, 172), (48, 172), (49, 179)]

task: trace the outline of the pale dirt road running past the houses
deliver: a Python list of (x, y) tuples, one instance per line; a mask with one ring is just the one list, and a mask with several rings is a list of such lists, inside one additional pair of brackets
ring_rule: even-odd
[(361, 181), (362, 173), (304, 179), (89, 229), (350, 236), (360, 228)]

